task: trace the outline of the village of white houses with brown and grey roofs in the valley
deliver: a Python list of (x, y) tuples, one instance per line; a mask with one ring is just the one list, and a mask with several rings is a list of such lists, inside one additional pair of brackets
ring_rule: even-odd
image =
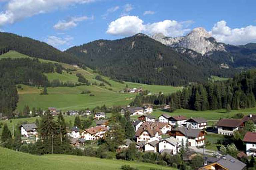
[[(163, 109), (168, 108), (168, 105)], [(58, 114), (54, 107), (48, 108), (53, 115)], [(221, 169), (226, 167), (227, 170), (243, 170), (245, 164), (230, 155), (220, 155), (219, 153), (207, 154), (204, 146), (207, 138), (207, 120), (200, 117), (185, 117), (181, 115), (172, 116), (171, 114), (162, 114), (159, 117), (152, 116), (153, 107), (130, 107), (127, 106), (121, 110), (121, 114), (129, 111), (131, 116), (136, 117), (133, 121), (135, 129), (134, 140), (125, 139), (123, 144), (118, 147), (116, 152), (126, 149), (132, 142), (141, 152), (158, 152), (175, 155), (180, 152), (182, 145), (187, 145), (189, 151), (185, 154), (185, 160), (189, 161), (197, 154), (205, 155), (205, 166), (202, 170)], [(69, 111), (70, 116), (78, 115), (78, 111)], [(83, 115), (92, 115), (90, 110), (86, 110)], [(83, 148), (86, 141), (96, 142), (104, 138), (104, 134), (109, 130), (106, 114), (104, 112), (94, 113), (96, 126), (88, 129), (79, 129), (73, 127), (69, 130), (70, 144), (74, 147)], [(256, 115), (249, 114), (242, 119), (220, 119), (216, 124), (217, 133), (220, 135), (233, 135), (235, 130), (244, 126), (245, 122), (253, 121), (256, 124)], [(36, 124), (23, 124), (20, 126), (21, 135), (24, 141), (33, 142), (38, 139)], [(239, 155), (251, 156), (256, 155), (256, 133), (247, 132), (243, 142), (246, 144), (246, 150)], [(217, 155), (217, 157), (216, 157)], [(228, 167), (228, 168), (227, 168)], [(200, 168), (201, 169), (201, 168)], [(224, 169), (224, 168), (223, 168)], [(226, 170), (225, 169), (225, 170)]]

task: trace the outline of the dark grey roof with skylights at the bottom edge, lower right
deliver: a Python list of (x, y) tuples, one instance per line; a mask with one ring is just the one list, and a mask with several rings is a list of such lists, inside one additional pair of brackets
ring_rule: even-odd
[(230, 170), (242, 170), (246, 166), (246, 164), (230, 155), (225, 155), (225, 158), (222, 157), (217, 163)]

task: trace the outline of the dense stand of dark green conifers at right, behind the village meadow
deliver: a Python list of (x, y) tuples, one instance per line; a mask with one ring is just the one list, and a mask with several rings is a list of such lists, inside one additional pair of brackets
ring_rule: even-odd
[(232, 80), (191, 85), (170, 95), (136, 96), (131, 105), (170, 104), (170, 111), (240, 109), (255, 106), (256, 70), (236, 75)]

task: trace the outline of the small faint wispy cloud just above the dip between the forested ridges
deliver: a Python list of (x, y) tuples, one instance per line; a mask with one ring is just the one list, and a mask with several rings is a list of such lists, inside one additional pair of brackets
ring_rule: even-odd
[(57, 36), (48, 36), (46, 43), (50, 44), (54, 47), (58, 47), (60, 45), (70, 45), (71, 41), (73, 40), (73, 37), (66, 36), (66, 37), (57, 37)]

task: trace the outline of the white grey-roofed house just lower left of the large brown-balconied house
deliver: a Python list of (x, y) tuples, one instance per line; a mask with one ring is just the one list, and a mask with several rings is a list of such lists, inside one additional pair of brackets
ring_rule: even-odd
[(181, 141), (174, 137), (162, 139), (158, 144), (159, 153), (169, 153), (175, 155), (179, 152), (180, 145)]

